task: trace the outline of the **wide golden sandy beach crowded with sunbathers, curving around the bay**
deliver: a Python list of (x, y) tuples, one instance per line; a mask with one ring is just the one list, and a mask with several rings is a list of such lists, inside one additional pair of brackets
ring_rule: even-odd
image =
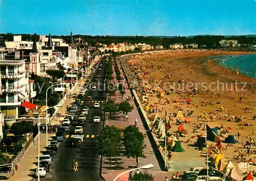
[[(256, 113), (256, 80), (226, 69), (212, 59), (205, 59), (216, 55), (243, 54), (248, 52), (168, 50), (134, 55), (127, 59), (127, 64), (138, 80), (131, 84), (136, 87), (144, 105), (154, 107), (155, 111), (151, 115), (157, 114), (164, 119), (166, 106), (172, 125), (170, 134), (175, 135), (179, 126), (174, 119), (178, 109), (182, 109), (183, 116), (186, 116), (186, 112), (194, 111), (188, 119), (190, 122), (181, 120), (188, 132), (179, 138), (185, 152), (173, 152), (172, 161), (181, 162), (191, 157), (205, 161), (205, 151), (199, 151), (191, 145), (197, 141), (197, 134), (205, 132), (206, 122), (211, 128), (221, 128), (219, 133), (223, 131), (222, 148), (214, 149), (215, 153), (221, 151), (225, 154), (225, 159), (236, 166), (241, 178), (243, 171), (238, 164), (242, 160), (250, 163), (247, 171), (255, 170), (256, 122), (253, 116)], [(191, 100), (190, 104), (187, 103), (188, 99)], [(228, 134), (234, 135), (238, 143), (224, 143)], [(254, 143), (249, 147), (249, 152), (248, 147), (244, 146), (248, 140)], [(216, 146), (216, 143), (208, 142), (208, 145)]]

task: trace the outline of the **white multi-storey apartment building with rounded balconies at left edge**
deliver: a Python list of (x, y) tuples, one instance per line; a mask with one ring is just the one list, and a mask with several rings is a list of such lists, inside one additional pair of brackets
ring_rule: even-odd
[[(1, 93), (0, 107), (4, 120), (11, 125), (18, 119), (18, 107), (35, 97), (33, 84), (29, 83), (25, 55), (20, 51), (5, 55), (0, 59)], [(30, 94), (32, 93), (32, 94)]]

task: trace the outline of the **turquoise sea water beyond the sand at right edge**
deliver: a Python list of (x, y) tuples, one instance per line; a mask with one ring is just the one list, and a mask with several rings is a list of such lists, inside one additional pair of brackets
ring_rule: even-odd
[(226, 55), (214, 57), (214, 59), (230, 70), (256, 79), (256, 54)]

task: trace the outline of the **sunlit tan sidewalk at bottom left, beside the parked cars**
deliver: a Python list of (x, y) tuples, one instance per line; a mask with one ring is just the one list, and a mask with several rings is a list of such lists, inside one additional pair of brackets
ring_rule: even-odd
[[(55, 134), (48, 134), (48, 140)], [(50, 144), (50, 141), (48, 141)], [(46, 134), (40, 133), (40, 156), (42, 156), (42, 151), (45, 151), (46, 147)], [(33, 145), (28, 149), (28, 151), (23, 156), (22, 160), (18, 163), (18, 170), (11, 176), (8, 180), (20, 180), (28, 181), (35, 177), (35, 172), (37, 168), (37, 154), (38, 154), (38, 137), (34, 140)]]

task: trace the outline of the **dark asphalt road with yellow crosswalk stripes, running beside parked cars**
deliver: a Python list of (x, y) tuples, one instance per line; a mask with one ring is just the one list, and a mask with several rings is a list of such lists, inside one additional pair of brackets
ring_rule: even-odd
[[(100, 76), (105, 75), (106, 64), (103, 63), (101, 70), (96, 73), (99, 73)], [(104, 79), (102, 77), (92, 77), (91, 82), (98, 81), (100, 84), (103, 84)], [(66, 141), (69, 140), (74, 131), (74, 126), (71, 126), (64, 142), (59, 144), (59, 149), (57, 155), (54, 157), (50, 172), (47, 174), (46, 178), (41, 178), (41, 180), (102, 180), (99, 176), (100, 157), (96, 149), (97, 135), (103, 127), (103, 104), (106, 95), (103, 91), (103, 85), (97, 85), (96, 87), (96, 90), (89, 88), (87, 94), (84, 96), (84, 98), (92, 96), (93, 101), (89, 103), (88, 116), (83, 125), (84, 139), (81, 148), (70, 148), (68, 144), (66, 144)], [(100, 102), (100, 108), (94, 108), (94, 102), (96, 101)], [(78, 115), (81, 109), (82, 106), (78, 108)], [(94, 116), (99, 116), (102, 121), (100, 123), (94, 123)], [(73, 159), (78, 161), (78, 172), (72, 171)]]

